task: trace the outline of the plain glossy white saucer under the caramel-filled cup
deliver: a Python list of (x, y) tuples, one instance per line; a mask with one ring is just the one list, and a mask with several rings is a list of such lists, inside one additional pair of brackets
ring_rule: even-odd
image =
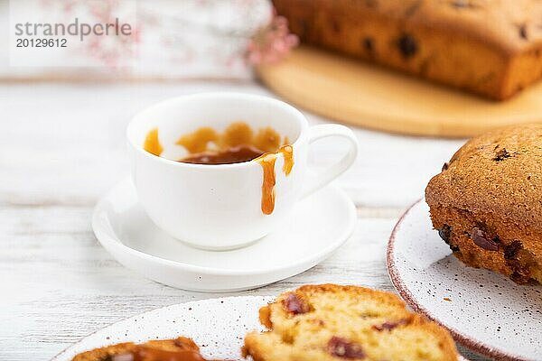
[(98, 202), (92, 228), (117, 261), (146, 278), (198, 292), (234, 292), (283, 280), (320, 263), (354, 230), (356, 208), (341, 190), (295, 205), (284, 227), (253, 245), (213, 252), (166, 235), (146, 216), (129, 179)]

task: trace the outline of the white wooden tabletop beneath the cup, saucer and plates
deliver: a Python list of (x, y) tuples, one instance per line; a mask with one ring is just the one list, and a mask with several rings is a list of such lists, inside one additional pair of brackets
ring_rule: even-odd
[[(268, 94), (253, 83), (0, 85), (0, 360), (48, 360), (118, 319), (219, 296), (176, 290), (117, 264), (93, 235), (90, 214), (128, 172), (130, 116), (167, 97), (220, 89)], [(392, 227), (463, 141), (356, 134), (360, 158), (337, 180), (358, 205), (350, 241), (305, 273), (240, 294), (318, 282), (393, 291), (385, 263)], [(322, 143), (312, 160), (323, 165), (340, 151)]]

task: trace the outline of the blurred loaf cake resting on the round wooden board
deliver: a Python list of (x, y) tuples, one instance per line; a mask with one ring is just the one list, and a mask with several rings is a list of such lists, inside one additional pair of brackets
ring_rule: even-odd
[(274, 0), (302, 42), (484, 97), (542, 76), (539, 0)]

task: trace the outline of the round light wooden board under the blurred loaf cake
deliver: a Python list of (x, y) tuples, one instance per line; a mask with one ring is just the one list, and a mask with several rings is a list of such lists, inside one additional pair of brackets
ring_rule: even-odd
[(542, 122), (542, 82), (496, 102), (306, 46), (257, 73), (294, 105), (392, 133), (466, 137), (502, 125)]

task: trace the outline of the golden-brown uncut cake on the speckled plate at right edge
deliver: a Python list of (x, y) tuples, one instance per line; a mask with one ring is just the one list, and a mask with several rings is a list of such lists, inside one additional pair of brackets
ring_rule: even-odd
[(453, 255), (514, 282), (542, 282), (542, 125), (473, 138), (425, 190)]

